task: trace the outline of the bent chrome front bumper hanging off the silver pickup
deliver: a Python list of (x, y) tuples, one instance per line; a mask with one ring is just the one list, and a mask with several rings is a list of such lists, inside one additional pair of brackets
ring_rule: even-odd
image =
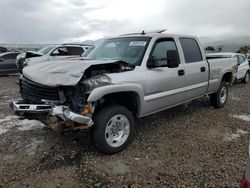
[(63, 120), (71, 120), (79, 124), (85, 124), (91, 127), (94, 122), (91, 117), (83, 116), (72, 112), (67, 106), (52, 106), (49, 104), (22, 104), (15, 101), (10, 104), (11, 109), (18, 114), (39, 114), (48, 113), (52, 116), (60, 117)]

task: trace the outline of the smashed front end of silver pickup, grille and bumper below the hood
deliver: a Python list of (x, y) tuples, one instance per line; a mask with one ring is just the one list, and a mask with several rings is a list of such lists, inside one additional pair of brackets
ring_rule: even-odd
[(73, 130), (83, 127), (88, 129), (93, 125), (93, 107), (87, 104), (83, 83), (76, 86), (49, 87), (22, 77), (20, 93), (23, 100), (10, 104), (17, 115), (45, 121), (52, 129), (61, 125)]

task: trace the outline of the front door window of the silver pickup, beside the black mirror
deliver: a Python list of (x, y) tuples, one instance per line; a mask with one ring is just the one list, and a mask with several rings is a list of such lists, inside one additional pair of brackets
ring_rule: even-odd
[(177, 50), (173, 39), (160, 39), (156, 42), (151, 55), (159, 66), (167, 65), (167, 51), (169, 50)]

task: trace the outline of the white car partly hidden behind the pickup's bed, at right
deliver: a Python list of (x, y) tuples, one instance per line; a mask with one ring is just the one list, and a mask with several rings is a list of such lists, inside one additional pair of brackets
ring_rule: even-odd
[(238, 71), (236, 80), (241, 80), (243, 83), (248, 83), (250, 76), (249, 62), (244, 54), (239, 53), (211, 53), (206, 55), (208, 59), (213, 58), (237, 58)]

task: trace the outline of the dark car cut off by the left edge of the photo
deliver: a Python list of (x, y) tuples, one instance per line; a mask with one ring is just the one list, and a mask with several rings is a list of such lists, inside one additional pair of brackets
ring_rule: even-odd
[(0, 54), (0, 75), (18, 73), (16, 57), (20, 52), (6, 52)]

